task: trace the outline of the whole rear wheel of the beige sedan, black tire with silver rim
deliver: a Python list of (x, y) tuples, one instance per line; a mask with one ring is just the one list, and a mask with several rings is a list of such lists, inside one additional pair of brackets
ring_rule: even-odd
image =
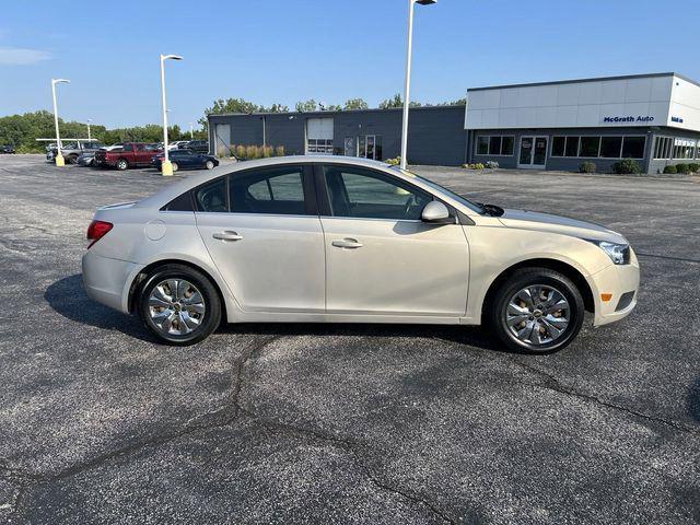
[[(173, 292), (173, 288), (179, 292)], [(184, 265), (165, 265), (140, 287), (138, 312), (143, 325), (160, 340), (187, 346), (206, 339), (219, 327), (221, 300), (211, 280), (200, 271)]]

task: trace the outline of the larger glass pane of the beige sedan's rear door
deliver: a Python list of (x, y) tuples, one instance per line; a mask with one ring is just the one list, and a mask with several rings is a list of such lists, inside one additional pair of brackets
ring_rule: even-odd
[(235, 213), (305, 214), (303, 166), (281, 166), (234, 174), (229, 179)]

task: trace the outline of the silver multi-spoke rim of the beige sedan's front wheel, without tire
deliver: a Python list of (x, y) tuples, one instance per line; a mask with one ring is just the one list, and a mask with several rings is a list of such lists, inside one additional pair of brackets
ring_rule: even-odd
[(571, 306), (556, 288), (532, 284), (511, 296), (504, 320), (512, 337), (526, 346), (539, 347), (556, 341), (567, 331)]

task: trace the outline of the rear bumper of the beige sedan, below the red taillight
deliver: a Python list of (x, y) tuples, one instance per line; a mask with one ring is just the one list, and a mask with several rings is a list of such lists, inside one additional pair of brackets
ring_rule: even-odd
[(88, 250), (83, 255), (83, 285), (93, 301), (129, 313), (129, 287), (143, 265), (102, 257)]

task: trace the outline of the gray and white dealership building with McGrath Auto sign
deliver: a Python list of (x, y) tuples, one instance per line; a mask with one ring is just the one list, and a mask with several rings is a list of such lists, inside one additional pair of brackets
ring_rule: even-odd
[[(209, 116), (212, 152), (284, 147), (285, 154), (386, 160), (400, 152), (401, 110)], [(634, 159), (643, 172), (700, 162), (700, 84), (676, 73), (472, 88), (466, 106), (410, 109), (408, 161), (609, 172)]]

